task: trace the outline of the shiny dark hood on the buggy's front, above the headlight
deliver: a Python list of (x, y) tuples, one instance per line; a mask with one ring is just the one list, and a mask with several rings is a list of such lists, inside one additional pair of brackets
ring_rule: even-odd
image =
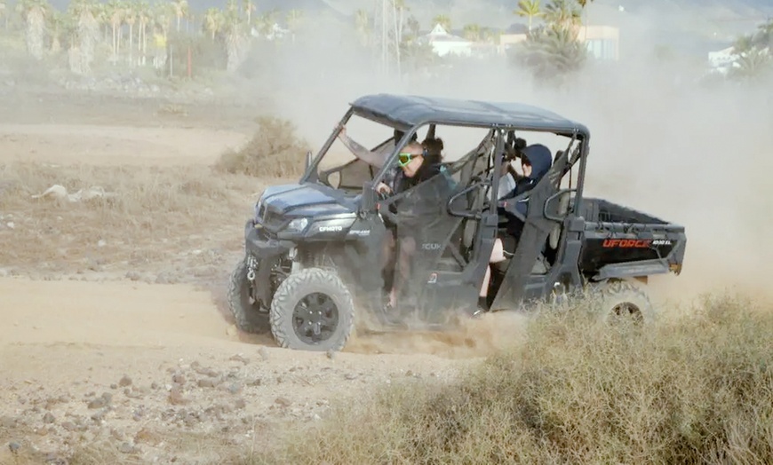
[(257, 208), (261, 216), (268, 211), (272, 216), (335, 215), (355, 212), (355, 199), (325, 185), (273, 185), (263, 192)]

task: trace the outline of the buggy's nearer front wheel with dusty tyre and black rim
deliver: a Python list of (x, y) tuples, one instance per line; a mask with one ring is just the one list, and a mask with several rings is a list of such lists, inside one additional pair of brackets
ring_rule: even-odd
[(338, 274), (307, 268), (283, 280), (271, 302), (271, 333), (280, 347), (340, 351), (355, 327), (355, 304)]

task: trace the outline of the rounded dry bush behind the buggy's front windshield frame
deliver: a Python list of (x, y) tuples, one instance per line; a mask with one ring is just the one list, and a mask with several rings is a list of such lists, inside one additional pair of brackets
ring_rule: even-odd
[(239, 150), (220, 155), (215, 168), (253, 177), (298, 177), (303, 173), (307, 142), (289, 120), (261, 116), (251, 140)]

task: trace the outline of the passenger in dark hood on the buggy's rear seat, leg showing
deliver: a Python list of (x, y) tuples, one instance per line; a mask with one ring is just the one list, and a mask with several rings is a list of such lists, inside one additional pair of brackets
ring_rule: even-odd
[[(522, 193), (529, 192), (535, 185), (545, 177), (550, 167), (553, 164), (553, 155), (550, 153), (550, 149), (542, 144), (532, 144), (523, 148), (521, 152), (521, 167), (523, 176), (515, 180), (515, 188), (513, 191), (505, 195), (502, 200), (513, 199)], [(515, 203), (515, 209), (521, 213), (524, 217), (529, 205), (529, 196)], [(500, 264), (507, 258), (510, 258), (515, 253), (515, 248), (518, 245), (518, 240), (521, 239), (521, 233), (523, 231), (523, 222), (520, 218), (511, 215), (506, 215), (506, 234), (498, 237), (494, 241), (494, 248), (491, 250), (491, 256), (489, 259), (490, 264)], [(483, 277), (483, 283), (480, 291), (480, 298), (478, 299), (479, 311), (485, 311), (488, 307), (487, 296), (489, 294), (489, 282), (491, 280), (491, 266), (486, 268), (486, 274)]]

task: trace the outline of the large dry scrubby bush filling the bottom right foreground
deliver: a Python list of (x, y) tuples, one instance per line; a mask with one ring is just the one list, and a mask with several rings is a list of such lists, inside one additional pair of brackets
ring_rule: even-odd
[(771, 463), (773, 313), (758, 310), (716, 297), (644, 331), (546, 312), (458, 382), (387, 388), (233, 462)]

